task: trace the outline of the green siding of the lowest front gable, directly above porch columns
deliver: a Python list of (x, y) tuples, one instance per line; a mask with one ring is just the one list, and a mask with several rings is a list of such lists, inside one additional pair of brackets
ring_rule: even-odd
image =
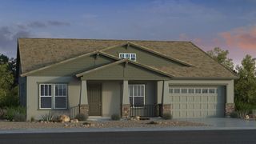
[[(126, 65), (126, 66), (125, 66)], [(142, 67), (135, 66), (134, 64), (121, 63), (114, 66), (109, 66), (101, 70), (95, 70), (89, 74), (85, 74), (82, 79), (102, 79), (102, 80), (161, 80), (168, 79), (161, 74), (154, 71), (146, 70)]]

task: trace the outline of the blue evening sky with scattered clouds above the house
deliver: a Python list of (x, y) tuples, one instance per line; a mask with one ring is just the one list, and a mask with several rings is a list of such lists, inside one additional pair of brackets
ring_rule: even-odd
[(256, 57), (256, 0), (0, 0), (0, 53), (17, 38), (190, 41)]

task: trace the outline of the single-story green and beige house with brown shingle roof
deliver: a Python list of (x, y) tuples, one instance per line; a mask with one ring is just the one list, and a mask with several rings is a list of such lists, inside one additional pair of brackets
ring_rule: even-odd
[(225, 117), (236, 74), (192, 42), (18, 38), (19, 97), (26, 118)]

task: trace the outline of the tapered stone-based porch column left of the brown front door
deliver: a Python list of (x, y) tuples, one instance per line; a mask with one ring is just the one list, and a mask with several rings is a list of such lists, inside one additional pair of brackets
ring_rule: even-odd
[(88, 98), (87, 98), (87, 82), (82, 80), (81, 82), (81, 92), (80, 92), (80, 102), (79, 102), (79, 113), (88, 114)]

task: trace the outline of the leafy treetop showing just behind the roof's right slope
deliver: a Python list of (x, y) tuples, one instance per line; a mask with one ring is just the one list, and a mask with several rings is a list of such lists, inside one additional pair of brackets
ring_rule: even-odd
[(222, 50), (219, 47), (215, 47), (214, 50), (207, 51), (212, 58), (214, 58), (217, 62), (221, 63), (223, 66), (230, 70), (234, 70), (234, 63), (231, 58), (228, 58), (227, 55), (229, 54), (228, 50)]

